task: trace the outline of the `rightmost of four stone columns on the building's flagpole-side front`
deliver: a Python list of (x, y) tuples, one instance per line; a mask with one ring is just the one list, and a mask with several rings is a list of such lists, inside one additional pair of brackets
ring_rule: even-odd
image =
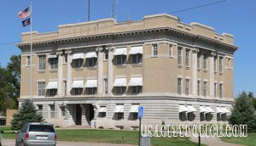
[(108, 95), (113, 89), (113, 48), (108, 48)]

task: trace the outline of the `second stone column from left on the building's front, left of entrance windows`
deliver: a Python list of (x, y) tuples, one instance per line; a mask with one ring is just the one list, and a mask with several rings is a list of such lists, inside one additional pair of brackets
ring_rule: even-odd
[(72, 51), (67, 52), (67, 95), (70, 95), (72, 85)]

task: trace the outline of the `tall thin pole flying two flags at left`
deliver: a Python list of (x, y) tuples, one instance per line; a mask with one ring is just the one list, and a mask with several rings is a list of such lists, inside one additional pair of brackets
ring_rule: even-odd
[(32, 1), (30, 2), (30, 100), (32, 100)]

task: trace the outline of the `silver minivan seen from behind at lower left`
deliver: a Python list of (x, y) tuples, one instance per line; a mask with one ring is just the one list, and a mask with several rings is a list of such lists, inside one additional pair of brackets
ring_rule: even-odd
[(57, 134), (53, 124), (26, 123), (15, 139), (16, 146), (55, 146)]

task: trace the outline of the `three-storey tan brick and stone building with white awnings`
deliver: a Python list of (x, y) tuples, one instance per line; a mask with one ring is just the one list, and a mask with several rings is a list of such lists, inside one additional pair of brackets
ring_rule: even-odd
[(234, 104), (232, 35), (170, 14), (22, 33), (20, 105), (30, 97), (55, 126), (137, 128), (226, 123)]

